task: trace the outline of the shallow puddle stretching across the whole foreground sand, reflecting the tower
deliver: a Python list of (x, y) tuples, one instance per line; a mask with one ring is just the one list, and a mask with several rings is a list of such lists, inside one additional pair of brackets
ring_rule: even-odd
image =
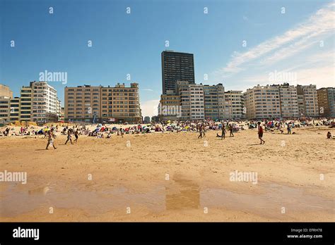
[[(334, 201), (305, 193), (304, 188), (278, 184), (260, 186), (263, 194), (240, 194), (227, 189), (199, 187), (191, 180), (171, 180), (153, 186), (148, 191), (134, 192), (123, 186), (86, 190), (78, 184), (71, 191), (62, 192), (61, 185), (24, 190), (9, 184), (0, 196), (1, 217), (13, 217), (36, 208), (79, 208), (95, 215), (126, 207), (144, 206), (153, 213), (165, 210), (228, 208), (232, 211), (255, 213), (262, 217), (279, 218), (281, 207), (288, 216), (303, 211), (325, 211), (334, 215)], [(48, 210), (48, 209), (47, 209)]]

